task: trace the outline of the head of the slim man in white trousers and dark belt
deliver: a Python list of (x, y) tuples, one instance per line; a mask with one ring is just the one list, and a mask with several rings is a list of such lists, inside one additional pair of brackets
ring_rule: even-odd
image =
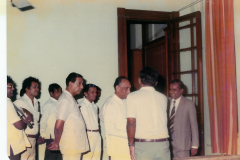
[(92, 103), (97, 98), (97, 86), (94, 84), (87, 84), (83, 88), (85, 98)]

